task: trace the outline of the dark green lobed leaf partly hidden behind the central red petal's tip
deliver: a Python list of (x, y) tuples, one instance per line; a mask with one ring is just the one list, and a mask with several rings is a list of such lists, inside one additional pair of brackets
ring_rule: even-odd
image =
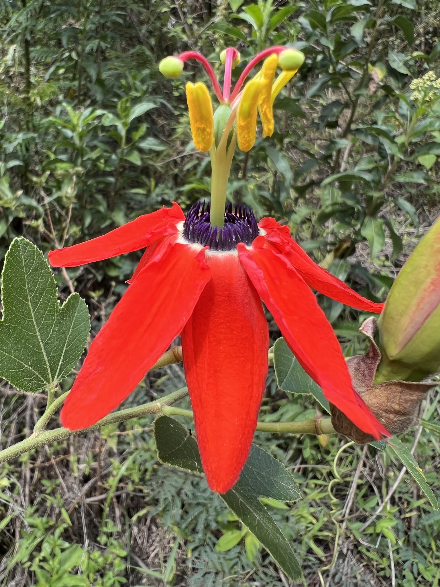
[[(182, 424), (168, 416), (160, 416), (154, 422), (154, 437), (160, 461), (200, 473), (197, 442)], [(283, 572), (293, 581), (300, 579), (302, 572), (289, 541), (259, 501), (260, 497), (290, 502), (299, 500), (300, 491), (289, 471), (270, 454), (253, 445), (239, 480), (221, 497)], [(238, 538), (238, 534), (233, 538)]]

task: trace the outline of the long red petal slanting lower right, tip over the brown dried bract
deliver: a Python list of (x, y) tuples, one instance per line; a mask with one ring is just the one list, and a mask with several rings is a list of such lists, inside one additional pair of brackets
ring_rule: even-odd
[[(260, 248), (261, 247), (261, 248)], [(333, 329), (309, 286), (272, 245), (257, 237), (252, 247), (237, 246), (238, 256), (287, 345), (324, 396), (356, 426), (375, 438), (389, 436), (354, 391)]]

